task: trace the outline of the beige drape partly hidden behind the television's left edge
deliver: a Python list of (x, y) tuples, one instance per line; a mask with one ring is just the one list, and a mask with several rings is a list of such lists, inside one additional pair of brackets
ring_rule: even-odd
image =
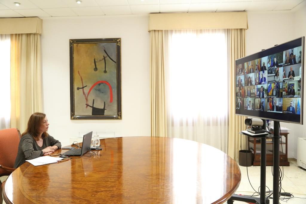
[[(235, 60), (245, 55), (245, 29), (230, 29), (230, 72), (229, 72), (229, 138), (228, 155), (238, 161), (240, 143), (245, 148), (245, 136), (238, 134), (246, 128), (246, 117), (235, 115)], [(242, 141), (241, 141), (242, 138)]]

